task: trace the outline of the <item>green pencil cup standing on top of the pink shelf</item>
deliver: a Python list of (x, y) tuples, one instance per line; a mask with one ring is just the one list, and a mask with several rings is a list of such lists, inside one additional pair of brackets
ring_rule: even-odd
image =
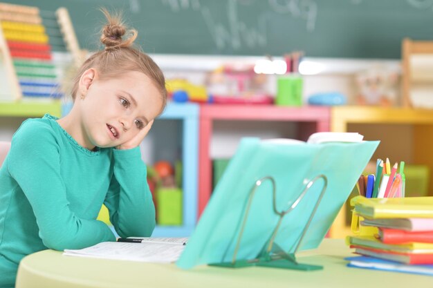
[(300, 75), (279, 77), (275, 104), (278, 106), (302, 106), (302, 82)]

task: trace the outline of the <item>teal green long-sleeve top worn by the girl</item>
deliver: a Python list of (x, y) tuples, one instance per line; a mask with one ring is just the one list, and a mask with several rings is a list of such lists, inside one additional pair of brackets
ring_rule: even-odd
[(44, 249), (115, 241), (96, 220), (104, 203), (121, 237), (150, 236), (155, 208), (140, 148), (89, 151), (45, 115), (12, 137), (0, 169), (0, 287), (13, 287), (19, 261)]

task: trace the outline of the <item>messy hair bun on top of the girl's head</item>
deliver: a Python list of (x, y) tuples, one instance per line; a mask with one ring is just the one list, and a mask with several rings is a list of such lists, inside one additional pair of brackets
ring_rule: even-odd
[[(107, 9), (103, 8), (101, 10), (108, 21), (107, 25), (102, 28), (101, 35), (101, 42), (105, 45), (105, 50), (131, 46), (132, 42), (137, 37), (137, 31), (127, 31), (127, 28), (122, 22), (122, 17), (120, 14), (117, 13), (116, 15), (111, 16)], [(127, 32), (129, 32), (131, 36), (126, 40), (123, 40), (122, 36), (124, 36)]]

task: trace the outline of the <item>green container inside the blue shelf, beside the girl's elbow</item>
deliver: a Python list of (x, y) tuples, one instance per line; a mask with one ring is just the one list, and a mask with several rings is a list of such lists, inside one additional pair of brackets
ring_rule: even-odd
[(156, 191), (158, 203), (158, 225), (182, 224), (182, 190), (179, 188), (160, 188)]

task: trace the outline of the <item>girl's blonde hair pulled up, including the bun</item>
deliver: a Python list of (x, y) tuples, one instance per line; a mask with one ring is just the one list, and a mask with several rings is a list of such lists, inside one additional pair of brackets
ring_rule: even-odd
[[(133, 47), (133, 41), (137, 38), (137, 31), (134, 29), (127, 30), (125, 24), (122, 22), (120, 13), (110, 15), (107, 9), (104, 8), (101, 11), (108, 21), (102, 28), (100, 38), (105, 49), (95, 52), (78, 69), (73, 79), (72, 98), (75, 100), (80, 77), (89, 68), (95, 68), (98, 71), (100, 79), (110, 79), (118, 77), (118, 75), (122, 75), (125, 72), (138, 71), (149, 77), (158, 88), (163, 98), (163, 106), (160, 111), (162, 113), (167, 103), (167, 90), (165, 88), (163, 72), (151, 57), (138, 48)], [(122, 37), (126, 34), (129, 34), (129, 37), (123, 39)]]

